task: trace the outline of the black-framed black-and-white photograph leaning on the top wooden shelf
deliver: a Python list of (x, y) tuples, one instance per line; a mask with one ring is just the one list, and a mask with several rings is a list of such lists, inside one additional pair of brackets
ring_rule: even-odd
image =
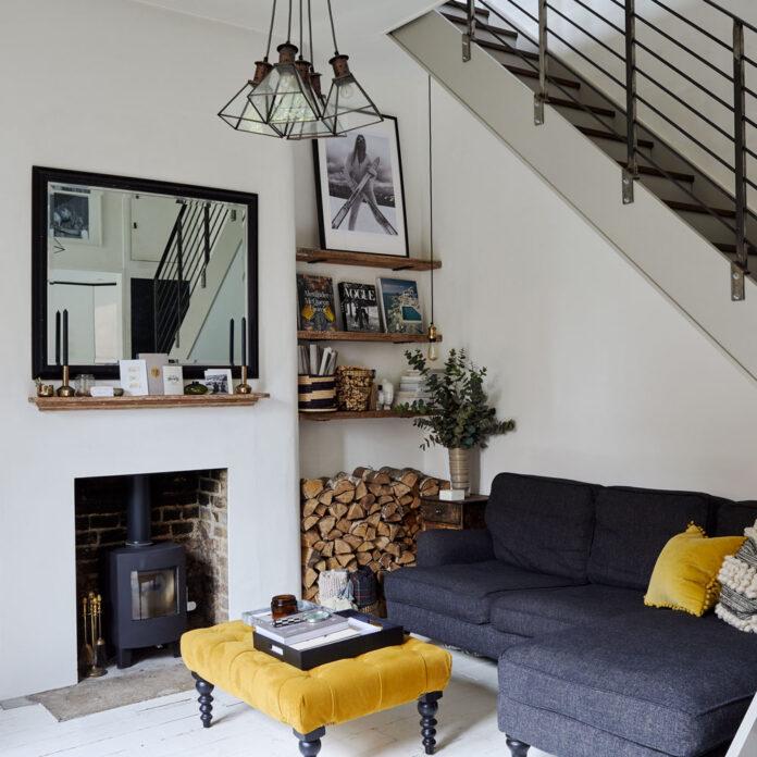
[(321, 247), (409, 256), (397, 119), (313, 141)]

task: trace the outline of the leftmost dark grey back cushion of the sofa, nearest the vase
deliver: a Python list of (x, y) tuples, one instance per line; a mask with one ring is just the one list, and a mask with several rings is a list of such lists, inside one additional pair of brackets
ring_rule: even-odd
[(575, 481), (500, 473), (486, 506), (495, 557), (585, 583), (596, 488)]

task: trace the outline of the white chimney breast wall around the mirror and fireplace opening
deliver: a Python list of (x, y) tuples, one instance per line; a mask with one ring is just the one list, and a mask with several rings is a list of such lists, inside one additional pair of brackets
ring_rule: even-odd
[[(228, 468), (232, 617), (299, 586), (295, 233), (282, 202), (291, 153), (215, 116), (261, 40), (125, 0), (7, 0), (2, 15), (0, 699), (76, 681), (76, 476)], [(271, 399), (193, 411), (29, 405), (34, 164), (259, 193), (256, 385)]]

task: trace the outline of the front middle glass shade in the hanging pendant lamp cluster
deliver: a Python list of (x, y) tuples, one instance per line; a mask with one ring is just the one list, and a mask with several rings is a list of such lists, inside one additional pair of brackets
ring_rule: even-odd
[(278, 63), (248, 94), (248, 100), (266, 124), (285, 132), (288, 124), (318, 121), (321, 114), (310, 86), (295, 63), (297, 48), (284, 44), (278, 46)]

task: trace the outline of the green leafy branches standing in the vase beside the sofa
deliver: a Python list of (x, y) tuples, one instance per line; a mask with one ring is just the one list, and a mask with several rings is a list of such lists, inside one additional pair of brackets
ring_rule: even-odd
[(421, 350), (407, 351), (408, 363), (425, 378), (431, 398), (417, 400), (412, 406), (398, 406), (400, 410), (418, 410), (424, 413), (413, 424), (426, 432), (421, 449), (438, 444), (447, 449), (486, 447), (489, 436), (505, 434), (516, 427), (516, 422), (498, 421), (495, 408), (486, 404), (484, 392), (485, 368), (475, 368), (464, 349), (449, 350), (443, 373), (432, 373)]

